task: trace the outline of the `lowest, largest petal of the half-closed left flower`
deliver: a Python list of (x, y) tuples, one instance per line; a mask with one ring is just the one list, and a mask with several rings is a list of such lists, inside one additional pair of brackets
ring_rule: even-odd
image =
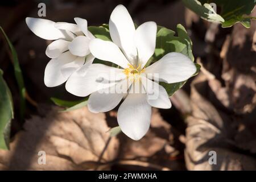
[(46, 65), (44, 71), (44, 84), (48, 87), (58, 86), (67, 81), (67, 77), (64, 77), (61, 73), (61, 68), (68, 63), (71, 63), (77, 56), (72, 55), (69, 51), (64, 52), (56, 59), (51, 59)]

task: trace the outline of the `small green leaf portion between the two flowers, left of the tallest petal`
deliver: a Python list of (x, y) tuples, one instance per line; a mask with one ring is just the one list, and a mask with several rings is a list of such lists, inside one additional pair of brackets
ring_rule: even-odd
[(108, 24), (102, 24), (100, 27), (90, 26), (88, 30), (98, 39), (112, 41), (109, 34)]

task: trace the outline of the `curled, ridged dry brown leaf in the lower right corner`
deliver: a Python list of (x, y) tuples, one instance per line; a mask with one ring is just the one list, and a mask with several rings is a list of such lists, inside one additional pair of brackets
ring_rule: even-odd
[[(255, 169), (256, 160), (234, 142), (236, 119), (217, 110), (206, 100), (208, 80), (202, 73), (192, 82), (192, 115), (186, 121), (185, 162), (189, 170)], [(252, 136), (251, 136), (252, 137)], [(255, 138), (255, 136), (254, 136)], [(209, 151), (216, 151), (216, 164), (209, 163)]]

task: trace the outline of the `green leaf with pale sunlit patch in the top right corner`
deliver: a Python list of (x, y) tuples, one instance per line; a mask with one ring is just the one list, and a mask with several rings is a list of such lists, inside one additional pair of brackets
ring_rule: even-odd
[[(250, 28), (250, 20), (255, 17), (248, 16), (256, 5), (255, 0), (182, 0), (184, 5), (200, 15), (201, 18), (209, 21), (219, 22), (222, 27), (231, 27), (237, 22), (241, 22), (246, 28)], [(210, 3), (217, 5), (216, 14)], [(202, 6), (204, 5), (204, 6)], [(221, 18), (222, 17), (222, 20)]]

